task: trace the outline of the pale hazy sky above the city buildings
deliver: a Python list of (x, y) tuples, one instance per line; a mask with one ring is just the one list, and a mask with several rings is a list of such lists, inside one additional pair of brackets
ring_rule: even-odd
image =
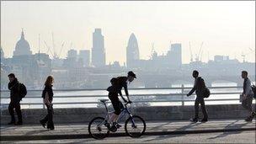
[(44, 41), (56, 52), (65, 41), (61, 57), (67, 51), (91, 50), (95, 28), (104, 35), (106, 60), (125, 61), (125, 49), (131, 33), (138, 40), (140, 56), (148, 59), (152, 43), (158, 54), (168, 51), (170, 41), (181, 43), (183, 62), (203, 45), (203, 61), (214, 55), (230, 55), (242, 61), (255, 61), (255, 2), (3, 2), (1, 1), (1, 45), (5, 56), (13, 56), (24, 28), (25, 39), (33, 53), (47, 51)]

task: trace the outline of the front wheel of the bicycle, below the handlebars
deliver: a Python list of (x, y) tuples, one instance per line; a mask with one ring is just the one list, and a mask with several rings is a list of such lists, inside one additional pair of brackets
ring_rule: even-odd
[(131, 137), (140, 137), (146, 131), (146, 123), (138, 115), (133, 115), (125, 121), (125, 133)]

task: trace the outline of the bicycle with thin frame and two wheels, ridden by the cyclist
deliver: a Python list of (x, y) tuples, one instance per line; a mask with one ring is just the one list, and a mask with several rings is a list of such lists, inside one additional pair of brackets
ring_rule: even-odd
[[(100, 99), (99, 101), (104, 104), (106, 109), (106, 115), (105, 117), (95, 117), (93, 120), (89, 122), (88, 125), (88, 132), (89, 135), (92, 136), (95, 139), (104, 139), (105, 137), (109, 136), (109, 129), (107, 128), (106, 124), (108, 123), (108, 120), (110, 118), (110, 115), (112, 115), (115, 111), (110, 111), (107, 108), (106, 101), (109, 99)], [(146, 123), (145, 120), (143, 120), (138, 115), (131, 115), (131, 111), (127, 108), (127, 104), (125, 103), (125, 108), (121, 109), (121, 113), (117, 119), (117, 123), (120, 122), (120, 120), (125, 116), (129, 115), (128, 119), (125, 120), (125, 133), (127, 136), (131, 137), (140, 137), (144, 134), (146, 131)], [(116, 128), (114, 131), (117, 131), (118, 128)]]

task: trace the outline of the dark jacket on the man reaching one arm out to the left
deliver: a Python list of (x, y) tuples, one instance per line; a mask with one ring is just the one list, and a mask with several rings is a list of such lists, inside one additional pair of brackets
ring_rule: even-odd
[(190, 90), (188, 95), (195, 92), (198, 97), (203, 97), (203, 92), (205, 91), (205, 80), (202, 77), (195, 78), (194, 87)]

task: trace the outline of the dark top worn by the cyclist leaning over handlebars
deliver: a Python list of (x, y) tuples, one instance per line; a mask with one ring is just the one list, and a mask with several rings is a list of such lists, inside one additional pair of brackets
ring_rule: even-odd
[(127, 77), (114, 77), (110, 82), (112, 86), (107, 89), (109, 93), (120, 93), (120, 95), (122, 95), (121, 90), (122, 88), (125, 88), (125, 94), (129, 95), (127, 89)]

